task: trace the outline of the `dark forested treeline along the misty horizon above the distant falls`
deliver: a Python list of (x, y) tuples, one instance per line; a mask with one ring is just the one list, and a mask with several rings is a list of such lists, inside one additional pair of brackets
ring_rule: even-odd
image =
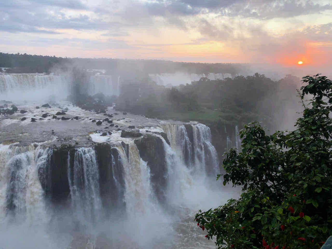
[(230, 73), (238, 74), (246, 64), (234, 63), (188, 63), (166, 60), (132, 60), (108, 58), (62, 58), (30, 54), (8, 54), (0, 52), (0, 67), (9, 67), (8, 73), (50, 73), (56, 69), (70, 67), (85, 69), (105, 69), (106, 74), (146, 75), (148, 73)]

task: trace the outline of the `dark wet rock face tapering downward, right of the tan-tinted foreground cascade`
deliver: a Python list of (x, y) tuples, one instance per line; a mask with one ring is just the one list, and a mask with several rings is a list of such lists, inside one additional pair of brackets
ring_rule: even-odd
[(152, 189), (161, 204), (165, 203), (167, 188), (167, 166), (165, 161), (164, 144), (160, 137), (145, 135), (142, 139), (134, 140), (140, 157), (150, 168)]

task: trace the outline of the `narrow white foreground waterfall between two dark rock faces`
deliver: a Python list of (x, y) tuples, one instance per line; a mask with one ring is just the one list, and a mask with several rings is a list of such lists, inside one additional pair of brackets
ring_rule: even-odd
[(92, 148), (77, 148), (71, 168), (68, 153), (68, 182), (72, 208), (78, 219), (99, 220), (102, 204), (99, 193), (99, 173)]

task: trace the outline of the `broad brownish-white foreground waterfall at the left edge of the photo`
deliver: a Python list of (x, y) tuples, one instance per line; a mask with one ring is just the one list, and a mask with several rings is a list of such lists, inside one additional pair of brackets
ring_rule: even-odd
[(11, 214), (28, 223), (47, 222), (38, 169), (45, 164), (48, 152), (49, 148), (38, 144), (0, 144), (1, 220), (5, 220), (6, 214)]

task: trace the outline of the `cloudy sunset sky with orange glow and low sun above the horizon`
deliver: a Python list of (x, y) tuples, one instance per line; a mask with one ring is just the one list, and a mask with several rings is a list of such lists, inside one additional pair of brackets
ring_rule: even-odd
[(331, 64), (332, 0), (0, 1), (0, 51)]

